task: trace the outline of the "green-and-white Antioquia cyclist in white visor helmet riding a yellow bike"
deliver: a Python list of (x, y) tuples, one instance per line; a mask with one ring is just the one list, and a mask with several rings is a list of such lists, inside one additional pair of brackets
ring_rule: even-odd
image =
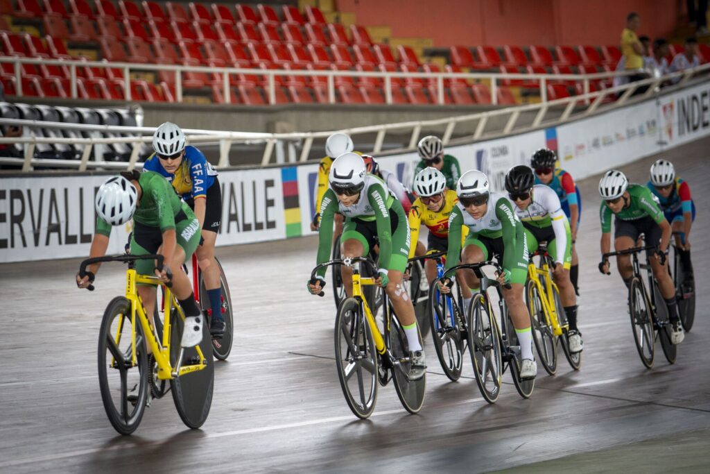
[[(317, 264), (327, 261), (333, 233), (333, 216), (345, 216), (342, 256), (361, 257), (378, 244), (380, 269), (377, 283), (387, 293), (397, 317), (402, 323), (410, 349), (410, 379), (424, 376), (424, 349), (419, 340), (414, 306), (402, 283), (409, 252), (409, 227), (402, 205), (390, 193), (385, 183), (368, 174), (365, 162), (356, 153), (344, 153), (333, 162), (329, 173), (330, 189), (323, 196)], [(348, 296), (352, 294), (352, 269), (342, 265), (343, 283)], [(325, 269), (320, 269), (315, 283), (308, 282), (312, 294), (325, 286)]]

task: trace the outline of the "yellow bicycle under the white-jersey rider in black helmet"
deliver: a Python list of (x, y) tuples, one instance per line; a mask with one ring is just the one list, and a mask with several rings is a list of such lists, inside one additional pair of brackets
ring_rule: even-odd
[[(535, 264), (535, 257), (539, 257), (539, 264)], [(569, 322), (559, 289), (552, 279), (552, 269), (556, 264), (547, 253), (547, 244), (540, 244), (537, 251), (530, 255), (528, 282), (525, 284), (532, 340), (542, 367), (550, 375), (555, 375), (557, 371), (558, 344), (562, 345), (562, 351), (572, 369), (579, 370), (581, 367), (581, 352), (573, 353), (569, 350)]]

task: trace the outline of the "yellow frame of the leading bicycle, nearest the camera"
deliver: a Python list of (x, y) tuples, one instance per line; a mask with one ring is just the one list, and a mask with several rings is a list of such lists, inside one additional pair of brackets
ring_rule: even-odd
[[(143, 328), (143, 335), (145, 335), (146, 343), (148, 347), (151, 348), (153, 352), (153, 357), (155, 357), (155, 363), (158, 365), (158, 379), (167, 380), (173, 379), (174, 377), (180, 377), (190, 372), (195, 372), (197, 370), (202, 370), (207, 367), (207, 362), (204, 359), (202, 350), (200, 346), (195, 346), (197, 350), (197, 355), (200, 357), (200, 361), (197, 364), (185, 365), (180, 367), (177, 372), (173, 371), (173, 367), (170, 365), (170, 316), (173, 314), (173, 310), (177, 311), (180, 318), (185, 319), (185, 313), (182, 312), (180, 304), (177, 298), (173, 296), (173, 292), (167, 287), (163, 291), (163, 308), (168, 308), (165, 311), (165, 321), (163, 322), (163, 340), (159, 343), (155, 338), (155, 333), (151, 327), (151, 323), (146, 316), (146, 309), (143, 308), (143, 303), (141, 298), (138, 298), (138, 292), (136, 291), (136, 284), (147, 284), (151, 286), (159, 286), (160, 280), (155, 276), (139, 275), (136, 269), (126, 270), (126, 299), (131, 303), (131, 353), (132, 360), (131, 364), (135, 366), (138, 363), (136, 357), (136, 315), (141, 321), (141, 328)], [(116, 345), (121, 342), (121, 328), (123, 326), (124, 320), (121, 318), (118, 326), (118, 333), (116, 335)], [(114, 360), (111, 360), (111, 365), (114, 365)]]

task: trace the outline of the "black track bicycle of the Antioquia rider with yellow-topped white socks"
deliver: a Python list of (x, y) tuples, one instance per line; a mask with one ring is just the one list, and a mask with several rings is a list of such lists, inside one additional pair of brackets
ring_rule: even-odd
[[(481, 281), (480, 290), (471, 299), (468, 308), (466, 325), (468, 326), (469, 353), (474, 366), (476, 384), (478, 384), (484, 399), (488, 403), (495, 403), (501, 394), (501, 381), (503, 373), (510, 369), (513, 384), (518, 394), (523, 398), (530, 398), (535, 388), (535, 379), (521, 379), (520, 365), (523, 363), (520, 356), (520, 344), (515, 334), (513, 321), (508, 314), (508, 306), (501, 293), (501, 284), (494, 275), (488, 276), (485, 267), (492, 268), (496, 274), (503, 269), (496, 262), (486, 261), (475, 264), (459, 264), (452, 266), (444, 272), (442, 279), (449, 279), (447, 286), (453, 284), (451, 275), (459, 269), (471, 269)], [(488, 288), (496, 289), (498, 293), (498, 310), (501, 315), (500, 325), (493, 312), (491, 297)], [(510, 285), (506, 284), (509, 289)]]

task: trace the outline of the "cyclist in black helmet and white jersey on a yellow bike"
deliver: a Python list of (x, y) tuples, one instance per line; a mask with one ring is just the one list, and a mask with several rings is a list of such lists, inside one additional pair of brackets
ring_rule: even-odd
[(569, 351), (581, 352), (584, 343), (577, 328), (577, 295), (569, 280), (572, 262), (569, 221), (562, 211), (557, 193), (544, 184), (534, 183), (535, 174), (525, 165), (513, 166), (506, 174), (506, 190), (515, 203), (515, 215), (525, 227), (528, 253), (535, 252), (538, 244), (545, 241), (548, 252), (555, 260), (552, 279), (559, 288), (559, 297), (569, 322)]

